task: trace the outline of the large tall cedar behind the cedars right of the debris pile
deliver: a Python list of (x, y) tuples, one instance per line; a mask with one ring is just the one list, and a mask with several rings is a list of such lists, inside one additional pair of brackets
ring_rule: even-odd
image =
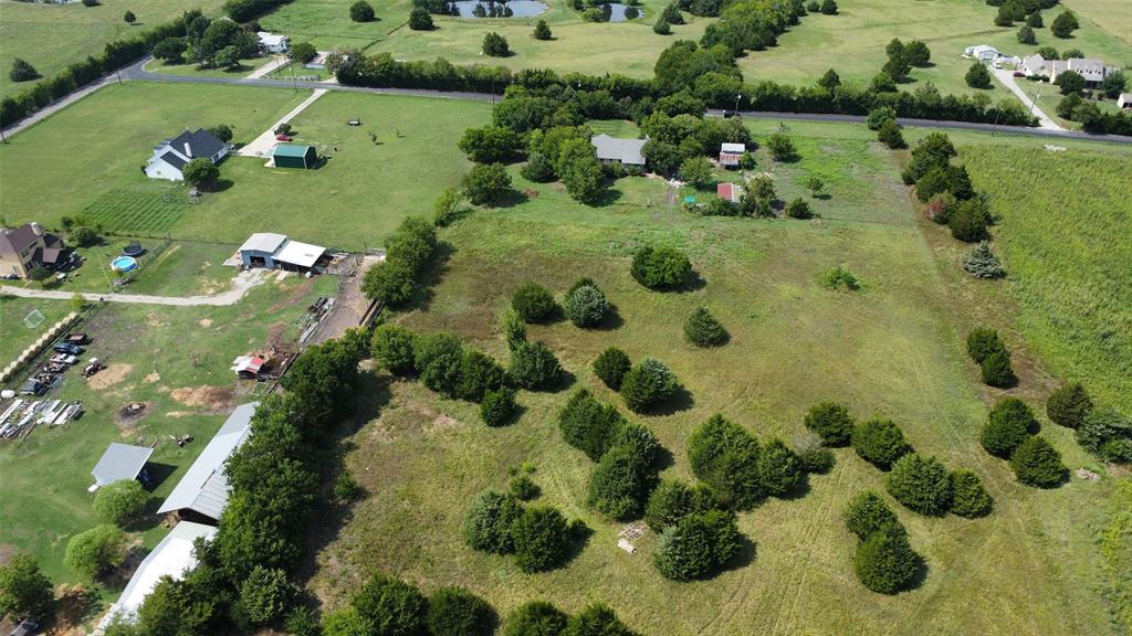
[(758, 440), (722, 415), (712, 415), (692, 433), (688, 461), (693, 474), (728, 508), (751, 508), (766, 496)]

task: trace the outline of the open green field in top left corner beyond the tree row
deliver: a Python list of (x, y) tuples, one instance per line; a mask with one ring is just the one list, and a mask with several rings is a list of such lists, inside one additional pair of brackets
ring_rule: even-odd
[[(80, 2), (40, 5), (0, 0), (0, 97), (19, 92), (31, 83), (15, 84), (8, 69), (15, 58), (31, 62), (44, 77), (61, 71), (87, 55), (102, 53), (108, 42), (166, 23), (185, 11), (199, 8), (212, 15), (222, 0), (102, 0), (97, 7)], [(137, 15), (134, 26), (126, 24), (127, 10)]]

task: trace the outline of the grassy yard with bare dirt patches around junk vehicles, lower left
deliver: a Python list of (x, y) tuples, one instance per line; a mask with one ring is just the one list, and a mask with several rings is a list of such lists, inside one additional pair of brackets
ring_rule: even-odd
[[(86, 414), (66, 428), (37, 428), (23, 441), (0, 444), (0, 549), (35, 555), (55, 583), (82, 582), (62, 562), (68, 539), (94, 525), (91, 469), (111, 441), (146, 444), (160, 439), (149, 472), (160, 483), (151, 505), (169, 495), (233, 406), (252, 399), (234, 381), (232, 358), (264, 346), (268, 338), (294, 337), (295, 320), (319, 293), (332, 292), (334, 280), (290, 277), (251, 291), (243, 304), (223, 308), (170, 308), (111, 304), (83, 326), (93, 338), (88, 355), (109, 363), (89, 381), (77, 371), (52, 398), (80, 399)], [(31, 301), (0, 301), (6, 333), (9, 316)], [(66, 311), (66, 302), (36, 302), (44, 313)], [(271, 308), (248, 311), (247, 307)], [(23, 327), (19, 327), (23, 329)], [(9, 338), (3, 338), (5, 346)], [(145, 402), (142, 415), (125, 420), (123, 404)], [(191, 435), (196, 441), (178, 448), (169, 435)], [(156, 519), (134, 528), (147, 547), (166, 532)], [(104, 592), (117, 592), (110, 586)]]

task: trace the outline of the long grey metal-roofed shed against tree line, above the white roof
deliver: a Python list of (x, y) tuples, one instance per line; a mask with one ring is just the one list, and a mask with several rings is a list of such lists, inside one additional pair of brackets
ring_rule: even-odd
[(173, 492), (157, 508), (157, 514), (180, 512), (185, 515), (191, 510), (205, 517), (205, 521), (220, 519), (231, 492), (228, 478), (224, 476), (224, 463), (251, 433), (251, 415), (255, 414), (256, 406), (259, 406), (258, 402), (235, 407), (197, 461), (186, 471)]

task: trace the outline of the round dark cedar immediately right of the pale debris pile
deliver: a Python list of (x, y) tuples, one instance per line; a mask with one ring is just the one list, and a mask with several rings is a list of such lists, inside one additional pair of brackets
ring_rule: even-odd
[(706, 578), (739, 551), (735, 515), (710, 510), (688, 515), (664, 528), (657, 540), (653, 565), (664, 578)]

